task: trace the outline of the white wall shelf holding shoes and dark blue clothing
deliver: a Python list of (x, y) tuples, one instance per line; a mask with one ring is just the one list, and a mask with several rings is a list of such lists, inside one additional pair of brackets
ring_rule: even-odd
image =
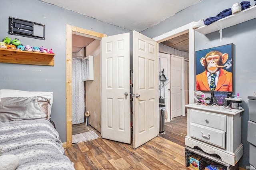
[(252, 6), (250, 8), (247, 8), (246, 10), (242, 10), (241, 12), (238, 12), (236, 14), (232, 14), (230, 16), (222, 18), (208, 26), (199, 27), (195, 29), (195, 31), (206, 35), (218, 31), (218, 28), (228, 28), (236, 24), (252, 20), (254, 18), (256, 18), (256, 6)]

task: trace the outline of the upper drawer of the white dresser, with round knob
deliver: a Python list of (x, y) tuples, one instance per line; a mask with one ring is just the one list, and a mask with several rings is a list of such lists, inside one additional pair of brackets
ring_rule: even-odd
[(191, 109), (189, 116), (190, 123), (196, 123), (207, 127), (217, 128), (226, 132), (226, 115)]

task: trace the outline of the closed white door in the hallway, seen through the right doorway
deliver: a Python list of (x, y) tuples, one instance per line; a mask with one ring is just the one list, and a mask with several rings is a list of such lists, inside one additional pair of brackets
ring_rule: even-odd
[(171, 55), (171, 118), (182, 116), (182, 61), (184, 62), (184, 58)]

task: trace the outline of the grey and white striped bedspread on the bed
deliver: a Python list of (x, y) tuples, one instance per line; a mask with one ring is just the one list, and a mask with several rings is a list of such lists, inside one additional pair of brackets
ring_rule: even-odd
[(74, 170), (58, 132), (46, 119), (0, 123), (0, 145), (3, 155), (18, 156), (16, 170)]

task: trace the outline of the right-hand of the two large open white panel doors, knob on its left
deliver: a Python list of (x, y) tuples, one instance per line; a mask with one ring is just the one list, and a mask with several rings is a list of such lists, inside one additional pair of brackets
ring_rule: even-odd
[(158, 43), (133, 31), (133, 148), (158, 134)]

